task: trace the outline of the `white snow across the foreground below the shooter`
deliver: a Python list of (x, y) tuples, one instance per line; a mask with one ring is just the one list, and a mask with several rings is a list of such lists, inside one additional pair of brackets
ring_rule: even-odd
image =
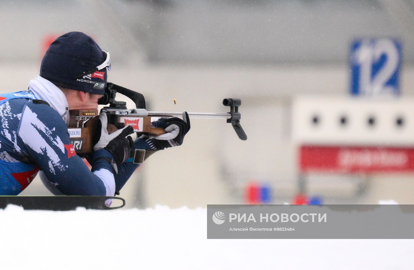
[(206, 209), (0, 210), (1, 269), (409, 269), (414, 240), (207, 240)]

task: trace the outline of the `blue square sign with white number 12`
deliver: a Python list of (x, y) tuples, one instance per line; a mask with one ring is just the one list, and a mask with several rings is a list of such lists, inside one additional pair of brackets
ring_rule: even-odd
[(366, 38), (351, 44), (351, 95), (399, 95), (401, 44), (390, 38)]

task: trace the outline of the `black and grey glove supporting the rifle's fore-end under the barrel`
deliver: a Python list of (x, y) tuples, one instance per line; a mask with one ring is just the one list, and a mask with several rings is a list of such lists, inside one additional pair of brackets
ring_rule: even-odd
[(153, 150), (163, 150), (181, 145), (185, 134), (190, 130), (190, 118), (186, 111), (183, 112), (183, 119), (178, 117), (160, 118), (155, 122), (155, 125), (164, 128), (167, 133), (159, 136), (144, 135), (141, 138), (146, 140)]

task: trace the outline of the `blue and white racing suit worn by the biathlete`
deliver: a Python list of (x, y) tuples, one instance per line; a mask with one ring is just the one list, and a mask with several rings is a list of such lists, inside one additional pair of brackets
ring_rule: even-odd
[[(89, 171), (71, 144), (64, 120), (67, 107), (60, 115), (50, 104), (57, 96), (67, 104), (60, 89), (39, 76), (28, 90), (0, 94), (0, 195), (19, 194), (42, 170), (62, 194), (113, 196), (138, 165), (125, 162), (114, 176), (111, 165), (100, 159)], [(48, 99), (50, 105), (39, 99)], [(134, 144), (137, 149), (151, 149), (139, 138)], [(113, 158), (99, 149), (93, 160), (101, 156)]]

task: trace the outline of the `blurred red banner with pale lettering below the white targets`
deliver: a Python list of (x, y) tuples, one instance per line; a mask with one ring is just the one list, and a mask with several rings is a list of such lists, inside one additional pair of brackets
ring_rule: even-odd
[(302, 172), (405, 172), (414, 171), (414, 148), (302, 146)]

